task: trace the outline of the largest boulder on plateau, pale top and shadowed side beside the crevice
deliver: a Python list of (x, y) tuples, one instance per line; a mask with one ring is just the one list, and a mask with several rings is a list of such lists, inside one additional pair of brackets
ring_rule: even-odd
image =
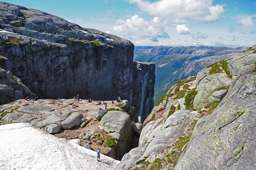
[(106, 113), (99, 123), (99, 128), (117, 139), (117, 159), (121, 160), (123, 155), (132, 149), (134, 140), (132, 131), (133, 124), (127, 113), (120, 111), (110, 111)]

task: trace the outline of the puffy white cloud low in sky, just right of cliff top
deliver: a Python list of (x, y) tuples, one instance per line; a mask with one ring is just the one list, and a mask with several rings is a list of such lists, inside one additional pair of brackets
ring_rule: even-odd
[(167, 23), (161, 22), (161, 19), (158, 17), (148, 22), (138, 15), (134, 15), (127, 20), (118, 19), (116, 26), (109, 29), (107, 33), (127, 39), (169, 38), (169, 35), (166, 33), (168, 29)]

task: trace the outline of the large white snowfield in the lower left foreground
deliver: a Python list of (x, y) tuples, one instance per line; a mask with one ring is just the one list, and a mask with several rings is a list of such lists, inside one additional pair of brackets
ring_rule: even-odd
[(29, 123), (0, 126), (0, 170), (110, 170), (120, 161), (56, 138)]

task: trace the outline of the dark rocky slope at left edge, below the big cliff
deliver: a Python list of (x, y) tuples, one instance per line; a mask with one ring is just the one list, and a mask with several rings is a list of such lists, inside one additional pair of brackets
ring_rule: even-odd
[[(7, 58), (2, 58), (3, 57), (0, 56), (0, 63), (2, 63), (3, 60), (7, 60)], [(35, 98), (36, 96), (30, 92), (30, 89), (27, 88), (26, 85), (22, 84), (18, 77), (12, 76), (10, 71), (7, 72), (0, 67), (0, 105), (25, 97)]]

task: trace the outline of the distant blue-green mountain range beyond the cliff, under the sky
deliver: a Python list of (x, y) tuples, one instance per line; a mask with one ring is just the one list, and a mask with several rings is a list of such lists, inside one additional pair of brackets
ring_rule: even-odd
[(207, 65), (222, 61), (242, 52), (247, 47), (167, 47), (136, 46), (134, 60), (155, 63), (154, 104), (177, 81), (194, 76)]

